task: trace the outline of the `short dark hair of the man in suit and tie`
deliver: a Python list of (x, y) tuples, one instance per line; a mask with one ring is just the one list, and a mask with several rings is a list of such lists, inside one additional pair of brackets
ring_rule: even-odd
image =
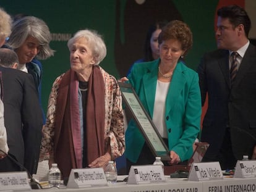
[(233, 25), (233, 27), (237, 27), (238, 25), (244, 25), (245, 35), (248, 38), (251, 22), (247, 12), (237, 5), (224, 6), (218, 9), (217, 15), (224, 19), (229, 19), (229, 22)]

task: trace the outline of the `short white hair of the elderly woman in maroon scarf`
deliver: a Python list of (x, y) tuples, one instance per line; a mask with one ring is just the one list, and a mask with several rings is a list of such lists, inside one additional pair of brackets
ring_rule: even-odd
[(75, 33), (75, 35), (67, 42), (69, 51), (72, 48), (75, 40), (79, 38), (85, 38), (88, 41), (88, 46), (92, 49), (93, 58), (95, 59), (95, 65), (100, 64), (100, 62), (106, 57), (106, 45), (95, 30), (80, 30)]

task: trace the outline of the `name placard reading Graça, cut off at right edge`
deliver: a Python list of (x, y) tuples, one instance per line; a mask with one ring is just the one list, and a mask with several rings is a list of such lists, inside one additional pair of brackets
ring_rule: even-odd
[(247, 178), (256, 177), (256, 161), (237, 161), (234, 177)]

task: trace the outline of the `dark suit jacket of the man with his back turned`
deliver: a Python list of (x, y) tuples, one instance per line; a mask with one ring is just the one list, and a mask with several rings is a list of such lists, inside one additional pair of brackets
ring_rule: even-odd
[(16, 69), (0, 71), (9, 154), (36, 173), (43, 120), (33, 77)]

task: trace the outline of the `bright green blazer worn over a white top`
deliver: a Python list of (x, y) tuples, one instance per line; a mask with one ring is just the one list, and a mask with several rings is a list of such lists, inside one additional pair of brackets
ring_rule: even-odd
[[(160, 59), (135, 64), (128, 76), (151, 119), (159, 62)], [(175, 151), (181, 161), (192, 156), (192, 144), (200, 131), (201, 112), (198, 74), (178, 62), (166, 97), (165, 122), (169, 151)], [(137, 162), (144, 142), (139, 128), (131, 120), (126, 130), (126, 157), (129, 161)]]

